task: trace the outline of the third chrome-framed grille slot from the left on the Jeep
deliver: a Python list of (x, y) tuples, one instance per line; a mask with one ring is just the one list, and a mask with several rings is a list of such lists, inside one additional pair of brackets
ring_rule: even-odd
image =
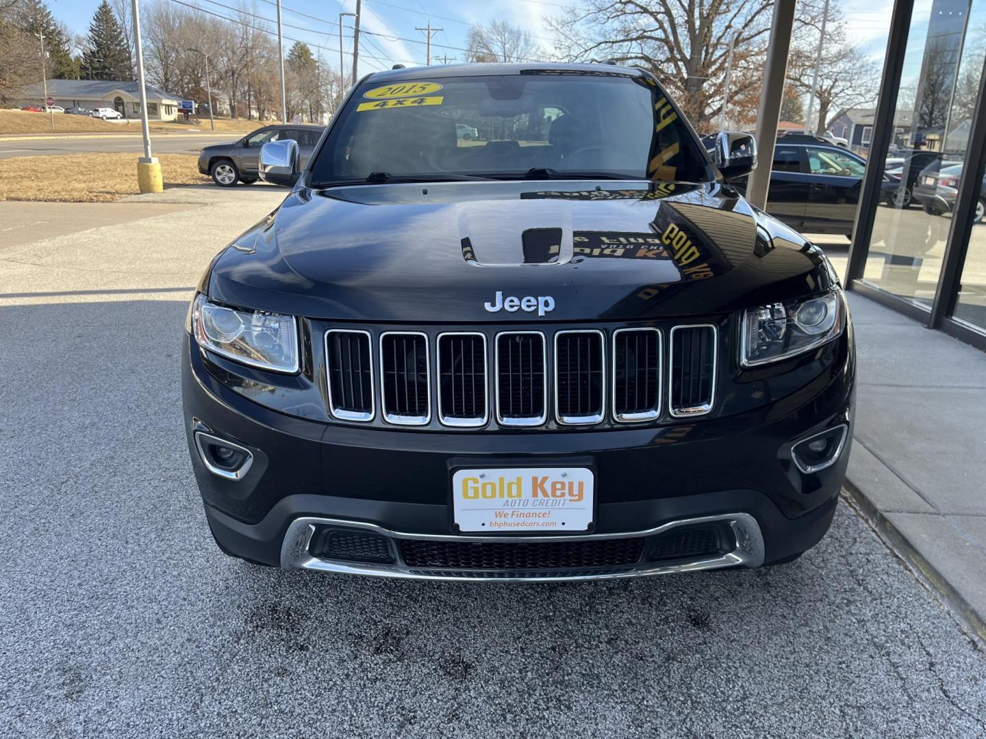
[(489, 420), (486, 334), (439, 334), (437, 365), (439, 421), (458, 428), (485, 426)]

